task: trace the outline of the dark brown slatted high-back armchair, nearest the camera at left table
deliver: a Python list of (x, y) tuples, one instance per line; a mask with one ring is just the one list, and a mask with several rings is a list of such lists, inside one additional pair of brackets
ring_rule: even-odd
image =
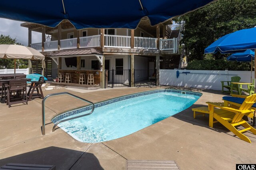
[(10, 80), (9, 84), (5, 84), (4, 87), (7, 88), (6, 105), (11, 107), (11, 105), (17, 104), (17, 103), (28, 104), (26, 85), (27, 85), (26, 79), (12, 79)]

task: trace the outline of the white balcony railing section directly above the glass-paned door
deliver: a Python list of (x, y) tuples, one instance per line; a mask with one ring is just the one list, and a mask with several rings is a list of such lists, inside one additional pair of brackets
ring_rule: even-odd
[(104, 35), (105, 45), (104, 47), (116, 47), (116, 48), (130, 48), (131, 37), (130, 36), (116, 36), (116, 35)]

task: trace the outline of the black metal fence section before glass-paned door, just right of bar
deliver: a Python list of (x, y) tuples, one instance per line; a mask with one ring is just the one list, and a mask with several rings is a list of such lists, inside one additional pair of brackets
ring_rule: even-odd
[(131, 70), (105, 70), (105, 87), (131, 87)]

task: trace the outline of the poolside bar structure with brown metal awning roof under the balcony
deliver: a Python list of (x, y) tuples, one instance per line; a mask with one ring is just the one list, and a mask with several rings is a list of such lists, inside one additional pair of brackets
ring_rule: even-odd
[[(62, 74), (63, 81), (58, 80), (56, 77), (56, 85), (69, 86), (69, 87), (80, 87), (84, 89), (97, 89), (104, 87), (102, 82), (104, 79), (103, 67), (103, 55), (96, 49), (76, 49), (76, 50), (66, 50), (60, 51), (49, 55), (53, 61), (58, 66), (58, 73)], [(93, 58), (95, 65), (90, 65), (86, 63), (86, 58)], [(71, 82), (66, 83), (66, 73), (69, 73)], [(79, 83), (80, 76), (84, 74), (84, 82)], [(94, 79), (94, 84), (87, 84), (88, 76), (92, 74)]]

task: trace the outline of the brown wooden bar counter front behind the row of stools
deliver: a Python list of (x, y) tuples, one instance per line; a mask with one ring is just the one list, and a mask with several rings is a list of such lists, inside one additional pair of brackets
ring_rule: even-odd
[[(85, 74), (86, 84), (88, 79), (88, 74), (93, 74), (94, 76), (94, 85), (100, 84), (100, 70), (64, 70), (60, 69), (59, 73), (63, 73), (64, 77), (66, 77), (66, 73), (71, 73), (72, 83), (79, 83), (80, 73)], [(64, 79), (65, 82), (65, 79)]]

